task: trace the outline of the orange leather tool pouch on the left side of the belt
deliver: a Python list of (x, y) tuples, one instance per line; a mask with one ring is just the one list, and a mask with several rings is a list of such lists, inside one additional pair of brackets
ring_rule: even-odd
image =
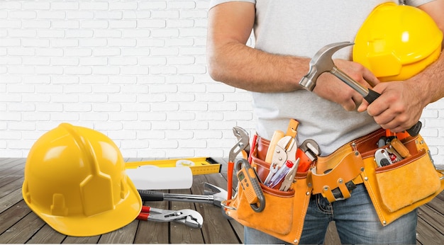
[[(270, 164), (259, 159), (256, 150), (252, 149), (252, 151), (251, 165), (256, 169), (259, 178), (264, 181), (270, 171)], [(311, 194), (311, 187), (307, 186), (306, 177), (307, 172), (296, 173), (296, 181), (287, 191), (279, 190), (279, 186), (276, 189), (260, 183), (265, 196), (265, 208), (262, 212), (252, 210), (245, 198), (243, 188), (238, 188), (235, 197), (223, 204), (226, 206), (226, 215), (247, 227), (260, 230), (291, 244), (297, 244), (304, 227), (304, 217)]]

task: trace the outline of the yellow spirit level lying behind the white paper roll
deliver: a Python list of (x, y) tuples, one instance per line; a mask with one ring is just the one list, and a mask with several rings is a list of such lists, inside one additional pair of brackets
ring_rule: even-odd
[(135, 169), (138, 166), (153, 165), (161, 168), (186, 166), (192, 170), (193, 175), (221, 173), (222, 164), (211, 157), (195, 157), (186, 159), (164, 159), (150, 161), (129, 161), (125, 163), (127, 169)]

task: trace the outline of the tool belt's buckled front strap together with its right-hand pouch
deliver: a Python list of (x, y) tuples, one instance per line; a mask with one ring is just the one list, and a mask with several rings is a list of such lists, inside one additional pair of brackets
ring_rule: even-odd
[(380, 129), (343, 145), (329, 156), (318, 157), (309, 173), (313, 194), (321, 193), (332, 203), (353, 195), (346, 183), (364, 183), (382, 225), (431, 201), (444, 189), (444, 175), (435, 169), (426, 142), (421, 135), (402, 139), (410, 156), (378, 167), (374, 154), (379, 139), (385, 135), (386, 130)]

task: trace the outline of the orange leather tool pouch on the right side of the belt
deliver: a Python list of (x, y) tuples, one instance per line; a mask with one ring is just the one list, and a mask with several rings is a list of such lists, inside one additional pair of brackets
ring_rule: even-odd
[(444, 189), (443, 173), (435, 169), (421, 135), (402, 140), (411, 156), (388, 166), (377, 167), (374, 146), (384, 130), (351, 143), (362, 152), (364, 171), (360, 174), (382, 225), (428, 203)]

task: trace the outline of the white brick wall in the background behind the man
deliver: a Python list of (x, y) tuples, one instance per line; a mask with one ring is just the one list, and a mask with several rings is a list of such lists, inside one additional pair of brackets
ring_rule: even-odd
[[(0, 156), (26, 157), (67, 122), (104, 132), (125, 157), (227, 157), (232, 127), (254, 122), (249, 93), (207, 74), (208, 4), (0, 1)], [(444, 100), (421, 121), (444, 165)]]

